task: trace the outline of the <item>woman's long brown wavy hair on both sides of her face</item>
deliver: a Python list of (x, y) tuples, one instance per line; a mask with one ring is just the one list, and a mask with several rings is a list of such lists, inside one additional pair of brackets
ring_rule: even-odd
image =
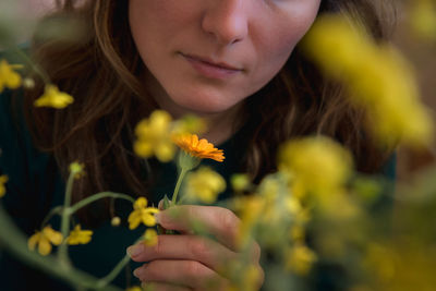
[[(35, 143), (53, 155), (64, 177), (71, 161), (86, 165), (87, 175), (78, 180), (74, 201), (109, 189), (146, 195), (150, 179), (144, 179), (145, 166), (132, 151), (133, 129), (157, 104), (140, 83), (146, 69), (130, 34), (129, 1), (57, 2), (58, 10), (41, 20), (31, 54), (75, 102), (61, 111), (34, 108), (44, 89), (36, 76), (37, 85), (25, 96)], [(386, 20), (392, 17), (377, 5), (378, 0), (323, 0), (319, 14), (351, 14), (384, 41), (390, 26)], [(59, 20), (81, 27), (80, 37), (39, 33)], [(389, 149), (375, 145), (366, 133), (364, 112), (346, 97), (342, 86), (322, 75), (296, 47), (280, 73), (244, 101), (240, 124), (247, 144), (241, 171), (259, 181), (276, 169), (276, 151), (283, 141), (312, 134), (331, 136), (350, 148), (358, 170), (379, 170)]]

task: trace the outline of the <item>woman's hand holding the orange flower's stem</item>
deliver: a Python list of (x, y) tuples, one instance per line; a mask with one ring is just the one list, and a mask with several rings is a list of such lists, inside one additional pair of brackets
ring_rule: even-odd
[[(161, 234), (158, 243), (137, 243), (128, 248), (135, 262), (147, 262), (134, 275), (153, 290), (226, 290), (230, 287), (229, 266), (238, 264), (242, 254), (237, 244), (240, 219), (229, 209), (215, 206), (181, 205), (160, 211), (158, 223), (181, 234)], [(195, 234), (193, 226), (201, 221), (215, 239)], [(256, 288), (264, 280), (259, 265), (261, 247), (253, 241), (249, 260), (257, 276)]]

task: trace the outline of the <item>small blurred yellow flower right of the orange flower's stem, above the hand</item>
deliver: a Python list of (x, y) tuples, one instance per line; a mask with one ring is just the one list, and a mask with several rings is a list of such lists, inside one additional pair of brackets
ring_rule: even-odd
[(186, 178), (185, 197), (211, 204), (226, 190), (226, 180), (208, 167), (202, 167)]

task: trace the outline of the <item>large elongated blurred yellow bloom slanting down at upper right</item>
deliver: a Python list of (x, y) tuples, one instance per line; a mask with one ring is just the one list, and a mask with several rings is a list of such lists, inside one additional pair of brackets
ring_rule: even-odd
[(339, 15), (319, 17), (303, 45), (326, 74), (348, 87), (350, 100), (365, 108), (380, 143), (431, 144), (432, 118), (419, 100), (413, 70), (393, 47), (375, 44)]

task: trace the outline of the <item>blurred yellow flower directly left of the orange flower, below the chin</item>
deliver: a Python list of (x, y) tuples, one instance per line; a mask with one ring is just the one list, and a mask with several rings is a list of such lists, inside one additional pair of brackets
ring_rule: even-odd
[(136, 142), (133, 148), (137, 156), (156, 156), (160, 161), (170, 161), (175, 154), (171, 142), (171, 116), (164, 110), (155, 110), (149, 119), (142, 120), (135, 128)]

